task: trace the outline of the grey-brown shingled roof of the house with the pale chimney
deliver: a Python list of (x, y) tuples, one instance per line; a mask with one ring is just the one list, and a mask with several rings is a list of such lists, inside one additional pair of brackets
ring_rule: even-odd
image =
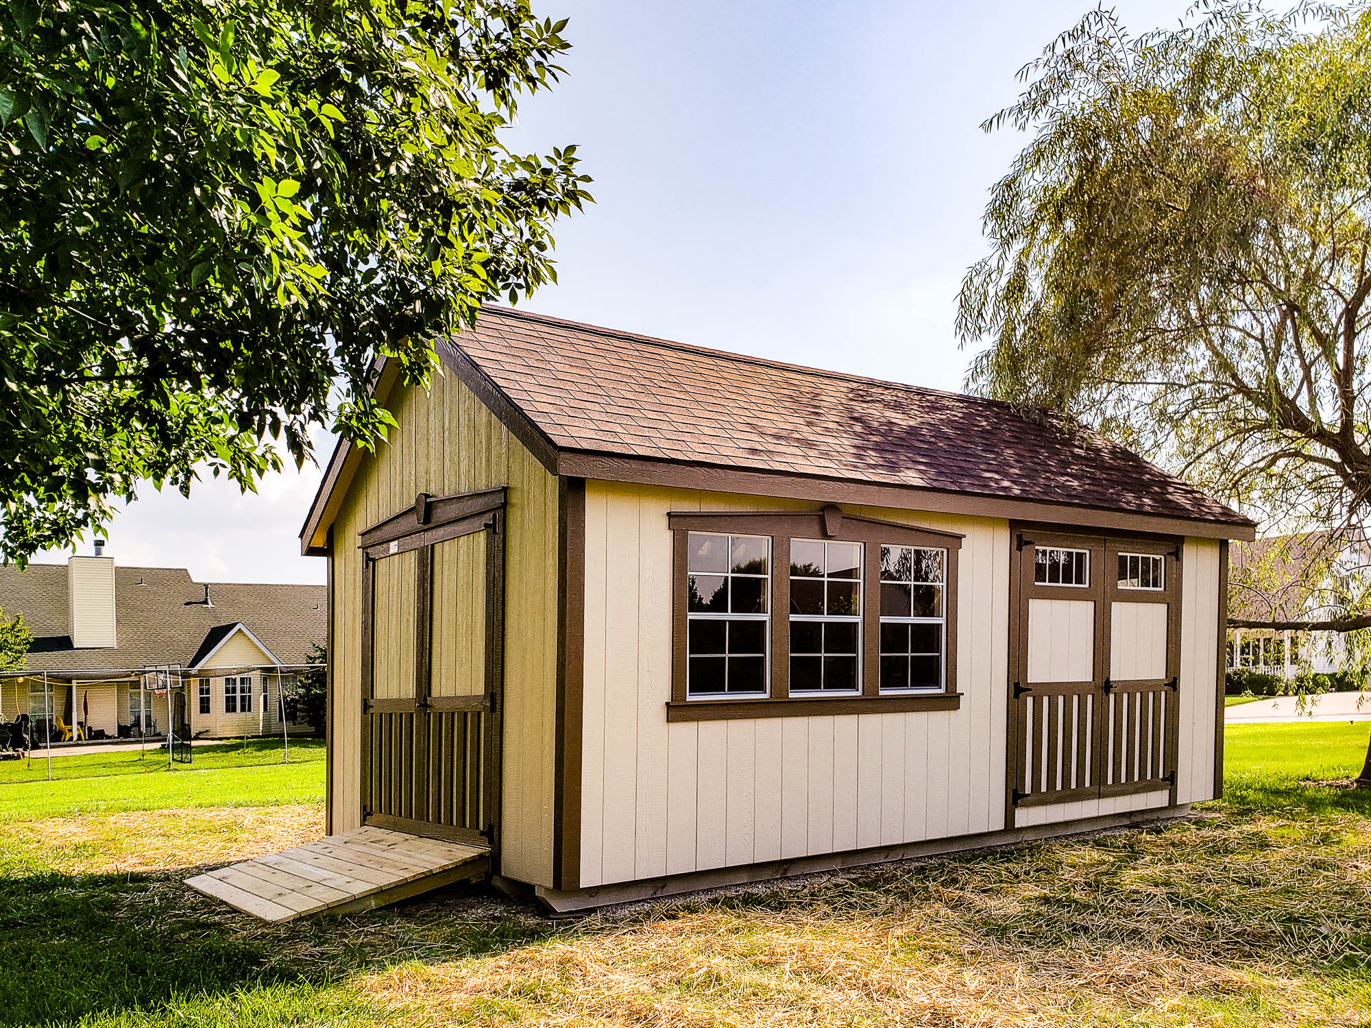
[(23, 614), (33, 632), (26, 669), (36, 672), (191, 668), (240, 621), (282, 663), (304, 663), (328, 617), (322, 585), (208, 583), (207, 606), (206, 583), (184, 567), (117, 565), (114, 595), (118, 646), (74, 650), (66, 565), (0, 566), (0, 609)]

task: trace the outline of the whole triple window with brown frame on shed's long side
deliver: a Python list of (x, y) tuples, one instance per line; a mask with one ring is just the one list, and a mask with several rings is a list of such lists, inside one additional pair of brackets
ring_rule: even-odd
[(675, 537), (669, 721), (960, 705), (961, 536), (847, 517), (836, 507), (668, 519)]

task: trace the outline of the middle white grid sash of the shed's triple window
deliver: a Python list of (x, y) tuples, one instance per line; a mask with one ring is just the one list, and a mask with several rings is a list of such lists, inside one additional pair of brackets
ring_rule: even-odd
[(790, 695), (861, 691), (862, 544), (790, 541)]

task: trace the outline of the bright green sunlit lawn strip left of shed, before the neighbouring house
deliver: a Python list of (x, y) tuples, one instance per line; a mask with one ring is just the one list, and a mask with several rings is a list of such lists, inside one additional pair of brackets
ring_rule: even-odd
[[(324, 800), (325, 747), (291, 743), (196, 747), (189, 765), (167, 768), (166, 754), (149, 751), (55, 757), (0, 763), (0, 822), (166, 807), (244, 807)], [(89, 777), (99, 776), (99, 777)], [(36, 780), (41, 779), (41, 780)]]

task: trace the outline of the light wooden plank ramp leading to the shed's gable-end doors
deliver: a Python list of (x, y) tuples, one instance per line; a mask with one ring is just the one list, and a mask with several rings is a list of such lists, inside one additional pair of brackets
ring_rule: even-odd
[(384, 828), (355, 828), (186, 879), (263, 921), (370, 910), (485, 874), (489, 850)]

